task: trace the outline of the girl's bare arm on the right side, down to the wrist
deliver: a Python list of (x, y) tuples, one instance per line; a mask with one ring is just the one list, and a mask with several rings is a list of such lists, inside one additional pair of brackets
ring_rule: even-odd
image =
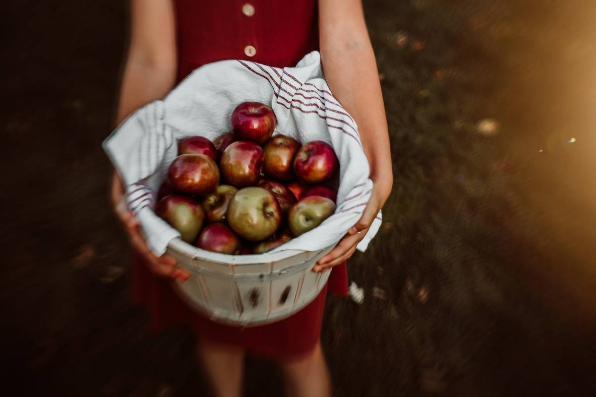
[[(391, 151), (387, 120), (378, 80), (377, 64), (362, 10), (359, 15), (341, 15), (328, 10), (331, 3), (321, 4), (321, 58), (325, 79), (333, 95), (358, 124), (362, 146), (371, 166), (371, 179), (387, 185), (392, 177)], [(357, 20), (362, 23), (345, 23)]]

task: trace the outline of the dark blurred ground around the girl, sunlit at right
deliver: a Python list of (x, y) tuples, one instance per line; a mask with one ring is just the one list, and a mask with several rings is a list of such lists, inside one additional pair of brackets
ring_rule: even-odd
[[(364, 7), (395, 185), (349, 263), (364, 303), (327, 300), (336, 394), (595, 395), (596, 4)], [(4, 8), (3, 392), (203, 395), (193, 333), (131, 304), (108, 199), (126, 2)], [(246, 390), (280, 395), (275, 365)]]

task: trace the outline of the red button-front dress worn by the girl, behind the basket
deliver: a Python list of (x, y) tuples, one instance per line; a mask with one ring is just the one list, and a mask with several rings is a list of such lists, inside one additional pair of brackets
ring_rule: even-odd
[[(175, 6), (178, 81), (209, 62), (241, 59), (286, 67), (318, 49), (316, 0), (176, 0)], [(312, 351), (321, 333), (325, 295), (347, 295), (343, 263), (333, 268), (319, 296), (296, 314), (277, 323), (243, 329), (214, 323), (189, 308), (172, 286), (150, 273), (136, 255), (133, 274), (135, 301), (150, 308), (157, 329), (191, 324), (201, 337), (271, 358)]]

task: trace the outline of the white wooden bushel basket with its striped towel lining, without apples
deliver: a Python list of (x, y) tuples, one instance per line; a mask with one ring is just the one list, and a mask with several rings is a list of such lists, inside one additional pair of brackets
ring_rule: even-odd
[[(230, 130), (232, 110), (246, 101), (270, 105), (278, 133), (299, 142), (323, 140), (340, 161), (336, 212), (319, 227), (274, 251), (260, 255), (224, 255), (183, 242), (179, 233), (153, 212), (167, 168), (178, 153), (178, 140), (201, 135), (210, 140)], [(126, 185), (128, 207), (157, 255), (167, 251), (191, 277), (176, 286), (182, 298), (215, 321), (256, 326), (290, 316), (314, 299), (330, 271), (312, 272), (319, 258), (339, 242), (360, 218), (370, 198), (367, 158), (356, 123), (337, 102), (324, 80), (318, 52), (294, 68), (249, 61), (204, 65), (163, 101), (134, 112), (104, 142), (104, 149)], [(377, 233), (377, 215), (359, 243), (364, 251)]]

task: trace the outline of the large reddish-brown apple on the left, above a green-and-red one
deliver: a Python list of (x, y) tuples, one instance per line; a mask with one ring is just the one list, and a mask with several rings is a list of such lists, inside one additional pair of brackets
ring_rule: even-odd
[(206, 195), (218, 187), (219, 169), (204, 154), (183, 154), (167, 170), (167, 182), (178, 192)]

